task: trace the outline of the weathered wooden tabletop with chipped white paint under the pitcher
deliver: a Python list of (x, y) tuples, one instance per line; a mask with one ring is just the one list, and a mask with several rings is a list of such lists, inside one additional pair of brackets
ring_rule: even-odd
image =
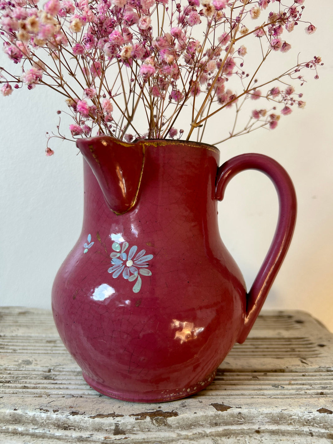
[(91, 389), (48, 310), (0, 308), (0, 443), (332, 443), (333, 334), (300, 311), (262, 312), (214, 382), (160, 404)]

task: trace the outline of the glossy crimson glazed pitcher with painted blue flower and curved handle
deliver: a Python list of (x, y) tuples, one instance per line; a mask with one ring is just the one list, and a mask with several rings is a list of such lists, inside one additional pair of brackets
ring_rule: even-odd
[[(60, 337), (104, 395), (162, 402), (198, 392), (262, 308), (293, 234), (293, 184), (264, 155), (239, 155), (218, 168), (218, 149), (201, 143), (101, 136), (77, 146), (84, 218), (52, 289)], [(227, 183), (246, 169), (266, 173), (280, 202), (248, 293), (217, 219)]]

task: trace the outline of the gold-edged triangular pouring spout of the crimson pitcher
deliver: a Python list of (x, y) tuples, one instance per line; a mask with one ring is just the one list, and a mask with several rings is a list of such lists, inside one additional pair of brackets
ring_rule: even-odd
[(110, 136), (79, 139), (76, 146), (91, 167), (109, 208), (126, 213), (138, 198), (144, 164), (144, 145)]

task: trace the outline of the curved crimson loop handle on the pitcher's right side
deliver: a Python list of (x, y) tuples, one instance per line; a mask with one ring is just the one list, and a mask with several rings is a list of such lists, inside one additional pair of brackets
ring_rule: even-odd
[(244, 170), (262, 171), (272, 180), (279, 199), (279, 216), (270, 249), (254, 279), (249, 293), (246, 294), (244, 326), (237, 340), (241, 344), (246, 340), (254, 321), (262, 309), (270, 287), (288, 251), (297, 212), (295, 189), (288, 173), (274, 159), (262, 154), (242, 154), (223, 163), (218, 168), (215, 198), (222, 200), (230, 179)]

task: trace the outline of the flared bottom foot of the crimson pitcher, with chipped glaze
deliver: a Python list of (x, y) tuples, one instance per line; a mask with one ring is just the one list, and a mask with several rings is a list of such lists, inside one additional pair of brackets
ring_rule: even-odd
[(87, 376), (82, 372), (84, 380), (88, 385), (96, 392), (102, 393), (102, 395), (109, 396), (110, 398), (119, 399), (122, 401), (130, 402), (167, 402), (176, 399), (185, 398), (186, 396), (193, 395), (194, 393), (203, 390), (207, 385), (210, 385), (214, 380), (216, 375), (215, 369), (202, 381), (197, 384), (190, 385), (185, 389), (174, 389), (174, 390), (151, 390), (145, 392), (130, 392), (130, 391), (119, 391), (115, 392), (107, 387), (107, 385), (101, 384), (100, 382), (94, 381), (91, 377)]

